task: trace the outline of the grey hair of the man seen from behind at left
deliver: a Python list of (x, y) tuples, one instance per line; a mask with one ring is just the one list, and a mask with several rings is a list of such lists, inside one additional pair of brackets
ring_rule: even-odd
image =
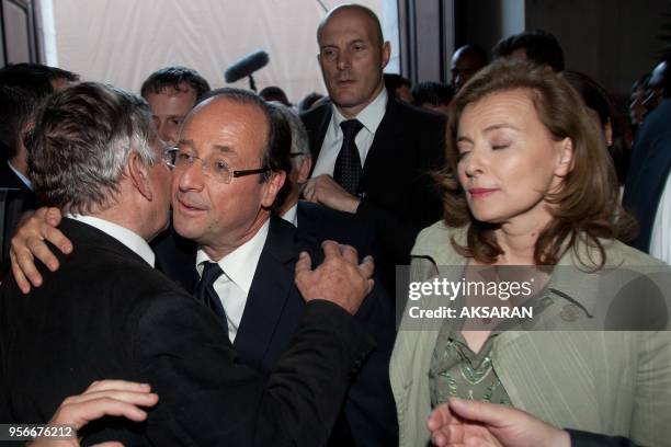
[(44, 205), (72, 214), (104, 210), (120, 193), (128, 156), (160, 157), (149, 105), (124, 90), (82, 82), (53, 95), (29, 139), (29, 167)]

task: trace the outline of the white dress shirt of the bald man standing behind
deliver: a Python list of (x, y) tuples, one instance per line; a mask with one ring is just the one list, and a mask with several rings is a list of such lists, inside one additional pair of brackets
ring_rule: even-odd
[[(356, 142), (356, 149), (359, 149), (359, 157), (361, 158), (362, 168), (366, 161), (368, 150), (371, 149), (371, 146), (373, 146), (373, 139), (375, 138), (377, 127), (379, 127), (379, 123), (387, 112), (387, 89), (383, 88), (382, 92), (379, 92), (375, 100), (373, 100), (371, 104), (366, 105), (366, 107), (354, 117), (364, 126), (359, 134), (356, 134), (356, 138), (354, 139)], [(340, 153), (340, 149), (342, 147), (343, 135), (342, 129), (340, 128), (340, 123), (346, 121), (348, 118), (342, 116), (336, 104), (332, 104), (331, 108), (331, 123), (329, 124), (329, 128), (323, 137), (321, 150), (319, 151), (319, 157), (315, 163), (315, 170), (312, 171), (314, 177), (320, 174), (333, 175), (336, 160), (338, 159), (338, 154)]]

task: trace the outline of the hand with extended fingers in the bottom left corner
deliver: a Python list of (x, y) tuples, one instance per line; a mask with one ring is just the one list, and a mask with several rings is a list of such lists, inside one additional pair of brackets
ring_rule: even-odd
[[(146, 383), (125, 380), (95, 381), (83, 393), (66, 398), (54, 413), (49, 425), (70, 425), (79, 431), (89, 422), (103, 416), (123, 416), (141, 422), (147, 419), (147, 413), (140, 406), (153, 406), (157, 402), (158, 396), (152, 393)], [(30, 446), (78, 447), (79, 439), (38, 438)], [(104, 443), (99, 446), (116, 447), (122, 444)]]

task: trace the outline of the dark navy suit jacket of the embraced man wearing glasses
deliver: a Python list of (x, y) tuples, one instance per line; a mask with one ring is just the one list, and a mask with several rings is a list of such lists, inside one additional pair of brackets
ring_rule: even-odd
[[(308, 203), (299, 203), (297, 213), (298, 230), (277, 216), (271, 218), (268, 239), (234, 342), (240, 360), (263, 373), (273, 370), (289, 345), (305, 307), (294, 285), (298, 253), (304, 250), (309, 252), (312, 265), (318, 265), (322, 260), (319, 242), (325, 239), (352, 244), (363, 254), (371, 254), (375, 250), (369, 242), (369, 226), (359, 222), (352, 215)], [(195, 286), (195, 244), (191, 245), (190, 254), (185, 251), (187, 244), (183, 242), (171, 230), (158, 243), (152, 243), (152, 247), (158, 247), (157, 267), (160, 266), (182, 286)], [(388, 378), (389, 357), (396, 336), (390, 303), (391, 298), (376, 286), (372, 297), (364, 301), (356, 314), (367, 332), (374, 335), (377, 348), (348, 393), (345, 413), (349, 427), (338, 424), (331, 444), (348, 445), (345, 432), (351, 432), (359, 445), (398, 443), (398, 425)]]

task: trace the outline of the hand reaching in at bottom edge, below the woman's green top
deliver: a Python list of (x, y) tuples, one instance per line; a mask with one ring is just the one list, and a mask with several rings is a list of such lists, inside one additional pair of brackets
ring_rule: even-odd
[(427, 422), (439, 447), (569, 447), (568, 432), (531, 414), (496, 403), (451, 398)]

